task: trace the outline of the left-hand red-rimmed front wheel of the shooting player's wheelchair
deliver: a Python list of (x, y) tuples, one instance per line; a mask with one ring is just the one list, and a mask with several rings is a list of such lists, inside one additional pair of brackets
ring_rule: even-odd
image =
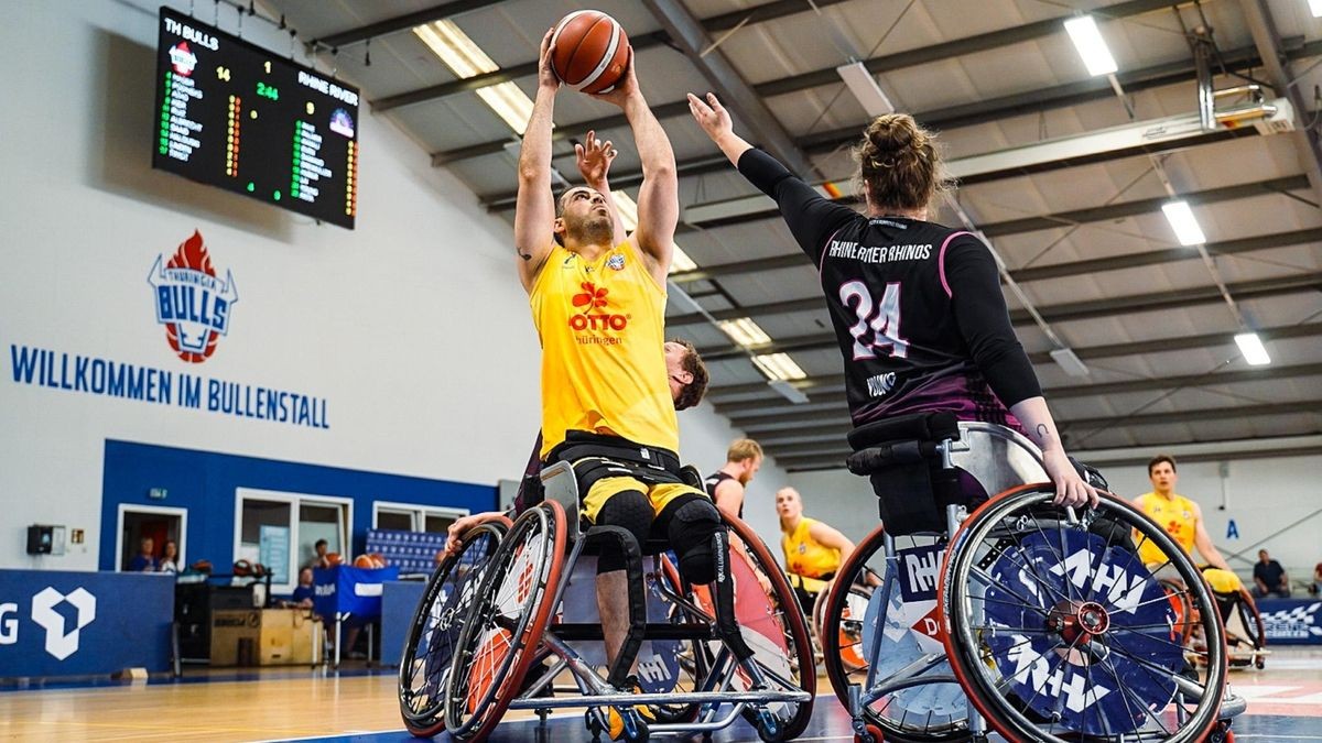
[(564, 562), (564, 509), (524, 512), (488, 561), (449, 666), (444, 718), (456, 740), (484, 740), (518, 693), (550, 620)]

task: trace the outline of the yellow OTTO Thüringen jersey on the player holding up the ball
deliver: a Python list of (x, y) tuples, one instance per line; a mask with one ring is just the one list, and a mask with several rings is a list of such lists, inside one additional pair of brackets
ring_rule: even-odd
[(543, 457), (566, 431), (678, 451), (662, 348), (665, 299), (628, 242), (592, 263), (551, 249), (529, 293), (542, 342)]

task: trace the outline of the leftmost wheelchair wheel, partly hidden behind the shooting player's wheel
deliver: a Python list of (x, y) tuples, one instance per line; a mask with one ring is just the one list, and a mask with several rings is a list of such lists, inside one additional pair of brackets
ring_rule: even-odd
[(486, 565), (509, 525), (502, 517), (464, 534), (459, 553), (436, 567), (418, 602), (399, 662), (399, 714), (418, 738), (446, 730), (449, 662)]

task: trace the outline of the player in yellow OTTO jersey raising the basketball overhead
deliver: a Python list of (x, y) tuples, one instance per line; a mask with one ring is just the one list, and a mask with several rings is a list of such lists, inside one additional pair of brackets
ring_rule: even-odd
[[(551, 194), (551, 118), (559, 81), (550, 67), (551, 33), (542, 38), (537, 98), (518, 163), (514, 246), (542, 344), (542, 459), (570, 461), (580, 512), (619, 526), (641, 543), (658, 521), (693, 583), (710, 583), (724, 543), (711, 500), (680, 477), (672, 395), (691, 381), (668, 369), (664, 346), (666, 274), (680, 217), (674, 152), (648, 108), (631, 57), (620, 83), (596, 95), (619, 106), (642, 165), (637, 229), (619, 229), (603, 184)], [(619, 233), (619, 234), (617, 234)], [(623, 238), (623, 239), (621, 239)], [(673, 353), (682, 353), (677, 348)], [(628, 592), (624, 554), (603, 543), (598, 607), (611, 661), (611, 684), (628, 631), (620, 599)], [(736, 632), (736, 631), (735, 631)], [(632, 653), (632, 649), (631, 649)], [(613, 732), (613, 731), (612, 731)]]

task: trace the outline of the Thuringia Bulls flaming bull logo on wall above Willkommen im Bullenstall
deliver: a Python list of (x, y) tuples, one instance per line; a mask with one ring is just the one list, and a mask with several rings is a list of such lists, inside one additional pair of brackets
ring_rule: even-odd
[(156, 292), (156, 321), (165, 325), (175, 353), (189, 364), (210, 358), (221, 336), (229, 334), (230, 311), (239, 295), (234, 274), (226, 271), (223, 282), (215, 276), (202, 234), (193, 230), (169, 262), (159, 255), (147, 283)]

